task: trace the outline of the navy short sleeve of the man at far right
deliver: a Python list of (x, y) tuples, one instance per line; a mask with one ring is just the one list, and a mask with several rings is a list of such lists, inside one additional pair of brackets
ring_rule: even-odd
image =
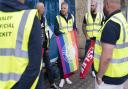
[(109, 20), (103, 28), (101, 42), (115, 45), (119, 37), (120, 25), (112, 20)]

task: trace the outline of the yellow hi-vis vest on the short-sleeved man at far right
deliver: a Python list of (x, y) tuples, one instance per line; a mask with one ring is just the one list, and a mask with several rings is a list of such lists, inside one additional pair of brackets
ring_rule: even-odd
[[(117, 13), (110, 17), (105, 25), (110, 21), (114, 21), (118, 23), (121, 27), (120, 29), (120, 38), (117, 41), (113, 54), (112, 60), (105, 72), (105, 76), (111, 78), (120, 78), (128, 75), (128, 29), (127, 29), (127, 21), (122, 13)], [(105, 25), (102, 27), (101, 31), (104, 30)], [(112, 30), (112, 29), (108, 29)], [(94, 51), (94, 68), (98, 72), (100, 56), (102, 53), (102, 47), (100, 43), (100, 38), (96, 40), (95, 51)]]

